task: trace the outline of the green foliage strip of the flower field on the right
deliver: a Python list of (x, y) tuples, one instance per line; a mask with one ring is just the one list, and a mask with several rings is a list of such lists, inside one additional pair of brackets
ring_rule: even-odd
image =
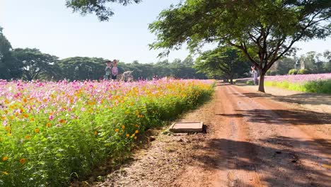
[(306, 83), (290, 83), (289, 81), (266, 81), (266, 86), (277, 86), (294, 91), (305, 91), (318, 94), (331, 94), (331, 80), (308, 81)]

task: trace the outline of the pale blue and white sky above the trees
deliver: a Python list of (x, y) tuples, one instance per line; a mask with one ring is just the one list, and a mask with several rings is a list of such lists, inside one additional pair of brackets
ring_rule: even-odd
[[(112, 4), (115, 16), (99, 22), (94, 15), (80, 16), (66, 8), (64, 0), (0, 0), (0, 26), (13, 47), (35, 47), (66, 57), (103, 57), (123, 62), (156, 62), (159, 51), (149, 50), (155, 36), (149, 23), (158, 13), (180, 0), (144, 0), (141, 4)], [(331, 39), (298, 42), (305, 52), (331, 50)], [(187, 50), (170, 52), (168, 59), (185, 59)]]

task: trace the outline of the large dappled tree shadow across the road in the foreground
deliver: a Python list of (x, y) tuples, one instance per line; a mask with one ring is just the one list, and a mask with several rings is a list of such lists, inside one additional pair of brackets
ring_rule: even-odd
[[(316, 157), (301, 149), (304, 145), (305, 149), (330, 154), (330, 142), (325, 142), (325, 148), (328, 149), (320, 150), (316, 146), (319, 141), (301, 141), (289, 137), (270, 137), (256, 143), (211, 139), (203, 147), (197, 147), (204, 152), (194, 155), (193, 159), (211, 169), (257, 171), (262, 174), (260, 181), (267, 183), (267, 186), (320, 186), (319, 183), (330, 184), (330, 176), (316, 166), (303, 165), (302, 161), (315, 162), (318, 159), (321, 167), (330, 164), (330, 158)], [(248, 180), (243, 181), (241, 186), (252, 185)]]

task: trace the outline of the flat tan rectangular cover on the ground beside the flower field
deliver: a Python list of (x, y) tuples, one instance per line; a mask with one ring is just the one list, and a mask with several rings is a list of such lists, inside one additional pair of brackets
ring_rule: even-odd
[(202, 132), (203, 122), (177, 122), (170, 126), (171, 132)]

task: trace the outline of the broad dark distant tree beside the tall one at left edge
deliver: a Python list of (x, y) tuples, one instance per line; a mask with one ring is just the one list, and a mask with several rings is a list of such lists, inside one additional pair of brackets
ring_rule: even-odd
[(13, 55), (23, 64), (23, 79), (50, 79), (57, 75), (58, 57), (40, 52), (38, 49), (17, 48)]

